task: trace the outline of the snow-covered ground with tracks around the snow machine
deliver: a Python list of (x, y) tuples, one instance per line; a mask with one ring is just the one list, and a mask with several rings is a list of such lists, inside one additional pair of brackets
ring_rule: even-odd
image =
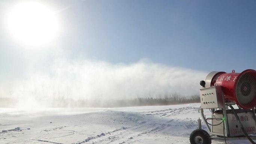
[(199, 106), (0, 108), (0, 144), (189, 144)]

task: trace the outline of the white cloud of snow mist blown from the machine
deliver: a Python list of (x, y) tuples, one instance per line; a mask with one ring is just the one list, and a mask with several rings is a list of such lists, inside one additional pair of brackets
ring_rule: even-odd
[(133, 64), (55, 60), (47, 72), (2, 81), (0, 96), (13, 98), (130, 99), (177, 93), (198, 94), (207, 73), (170, 67), (147, 59)]

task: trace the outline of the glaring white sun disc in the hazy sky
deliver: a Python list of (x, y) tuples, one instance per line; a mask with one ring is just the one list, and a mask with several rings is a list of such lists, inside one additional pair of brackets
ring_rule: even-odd
[(7, 27), (12, 37), (28, 45), (49, 43), (58, 31), (55, 13), (36, 2), (15, 5), (7, 15)]

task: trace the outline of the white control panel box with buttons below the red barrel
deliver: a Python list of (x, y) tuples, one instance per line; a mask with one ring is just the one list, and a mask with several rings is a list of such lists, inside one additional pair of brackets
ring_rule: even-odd
[(223, 108), (225, 107), (221, 86), (200, 89), (201, 108)]

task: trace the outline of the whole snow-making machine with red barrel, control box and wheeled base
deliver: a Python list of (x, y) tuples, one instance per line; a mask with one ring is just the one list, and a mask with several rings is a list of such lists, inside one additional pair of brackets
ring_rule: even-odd
[[(190, 135), (191, 144), (211, 144), (212, 140), (247, 139), (256, 144), (256, 71), (241, 73), (213, 71), (199, 90), (201, 105), (198, 112), (208, 130), (201, 126)], [(235, 105), (234, 108), (233, 105)], [(204, 110), (210, 112), (204, 114)]]

